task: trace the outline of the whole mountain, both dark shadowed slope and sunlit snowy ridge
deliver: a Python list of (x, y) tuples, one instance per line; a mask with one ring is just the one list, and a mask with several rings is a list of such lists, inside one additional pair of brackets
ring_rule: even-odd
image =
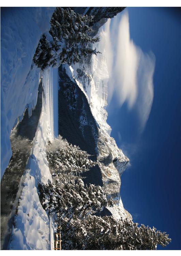
[[(99, 43), (95, 47), (101, 50)], [(73, 73), (67, 65), (59, 68), (59, 133), (97, 161), (97, 165), (85, 173), (85, 182), (104, 186), (107, 197), (116, 200), (116, 204), (104, 209), (101, 215), (131, 219), (120, 197), (120, 176), (129, 159), (110, 137), (111, 128), (106, 123), (109, 74), (104, 53), (72, 68)]]

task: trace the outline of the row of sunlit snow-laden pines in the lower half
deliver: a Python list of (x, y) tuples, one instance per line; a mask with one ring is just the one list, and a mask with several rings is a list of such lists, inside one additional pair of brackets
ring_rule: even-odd
[(166, 246), (171, 241), (168, 234), (154, 227), (94, 215), (115, 202), (107, 200), (103, 187), (84, 184), (80, 174), (96, 165), (89, 157), (61, 136), (47, 145), (49, 168), (55, 177), (39, 184), (39, 196), (49, 214), (60, 214), (62, 250), (155, 250), (157, 244)]

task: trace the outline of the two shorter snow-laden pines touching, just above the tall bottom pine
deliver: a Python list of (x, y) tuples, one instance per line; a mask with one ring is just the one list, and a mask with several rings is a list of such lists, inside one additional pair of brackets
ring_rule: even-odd
[(39, 183), (40, 201), (50, 214), (59, 212), (60, 216), (71, 219), (73, 216), (85, 218), (103, 209), (112, 201), (107, 200), (101, 186), (84, 185), (80, 173), (95, 166), (86, 151), (62, 140), (61, 136), (48, 141), (47, 159), (51, 172), (57, 174), (52, 183)]

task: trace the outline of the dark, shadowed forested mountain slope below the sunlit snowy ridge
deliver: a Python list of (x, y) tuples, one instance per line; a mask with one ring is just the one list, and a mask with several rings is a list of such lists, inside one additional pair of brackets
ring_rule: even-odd
[[(67, 65), (59, 68), (59, 134), (69, 143), (77, 145), (96, 161), (98, 155), (98, 125), (94, 119), (86, 95), (72, 78)], [(85, 183), (103, 186), (99, 165), (85, 173)]]

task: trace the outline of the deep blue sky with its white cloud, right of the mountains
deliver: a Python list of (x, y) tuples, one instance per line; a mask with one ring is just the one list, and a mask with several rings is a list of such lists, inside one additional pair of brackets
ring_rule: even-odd
[[(130, 34), (121, 28), (123, 15)], [(108, 56), (109, 73), (116, 79), (109, 81), (107, 122), (131, 163), (122, 175), (121, 198), (133, 221), (169, 234), (167, 250), (181, 249), (180, 28), (180, 9), (126, 8), (111, 19), (108, 30), (117, 46), (112, 46), (112, 59)], [(127, 44), (124, 56), (118, 49)], [(130, 78), (122, 79), (121, 70)], [(119, 91), (121, 86), (125, 90)]]

